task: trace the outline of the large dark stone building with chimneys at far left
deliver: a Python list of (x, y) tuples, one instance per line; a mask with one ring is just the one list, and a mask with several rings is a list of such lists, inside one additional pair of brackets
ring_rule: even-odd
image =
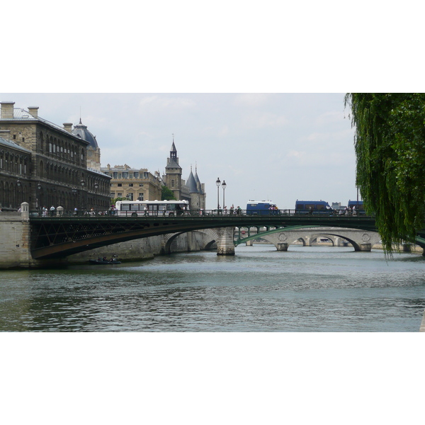
[[(90, 142), (79, 134), (73, 134), (72, 123), (63, 127), (38, 116), (38, 106), (14, 108), (14, 102), (2, 101), (0, 131), (9, 144), (0, 166), (0, 203), (17, 209), (26, 201), (30, 210), (46, 206), (62, 206), (65, 210), (108, 208), (110, 203), (111, 178), (87, 167), (87, 148)], [(6, 131), (6, 132), (4, 132)], [(10, 143), (26, 149), (17, 152)], [(4, 155), (6, 147), (3, 142)], [(12, 149), (12, 151), (11, 151)], [(21, 171), (24, 170), (23, 174)], [(18, 171), (18, 174), (16, 174)], [(21, 185), (18, 185), (19, 177)], [(15, 191), (15, 196), (11, 192)], [(22, 199), (18, 199), (21, 193)], [(6, 205), (4, 205), (6, 207)]]

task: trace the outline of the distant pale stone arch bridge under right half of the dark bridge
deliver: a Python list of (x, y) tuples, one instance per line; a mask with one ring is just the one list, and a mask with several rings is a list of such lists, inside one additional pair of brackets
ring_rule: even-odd
[(319, 227), (295, 230), (283, 230), (261, 236), (276, 246), (278, 251), (288, 251), (288, 246), (298, 239), (304, 246), (311, 246), (319, 237), (327, 237), (334, 246), (341, 246), (346, 240), (353, 245), (354, 251), (370, 251), (372, 246), (378, 244), (380, 236), (376, 232), (366, 232), (360, 229), (346, 229), (341, 227)]

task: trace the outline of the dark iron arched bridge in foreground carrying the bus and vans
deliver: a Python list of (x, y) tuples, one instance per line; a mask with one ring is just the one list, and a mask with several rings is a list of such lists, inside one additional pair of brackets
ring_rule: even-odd
[[(246, 215), (244, 210), (233, 214), (217, 210), (201, 214), (190, 210), (180, 215), (118, 213), (58, 211), (44, 216), (40, 211), (30, 212), (33, 259), (60, 258), (132, 239), (217, 227), (346, 227), (376, 232), (375, 217), (367, 215), (309, 215), (295, 210), (271, 211), (269, 215)], [(418, 236), (416, 243), (425, 247), (425, 229)]]

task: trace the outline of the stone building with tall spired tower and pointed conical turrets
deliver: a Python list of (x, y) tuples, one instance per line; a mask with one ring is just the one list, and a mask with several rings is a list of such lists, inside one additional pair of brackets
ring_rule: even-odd
[(167, 158), (165, 174), (162, 178), (165, 186), (174, 193), (174, 197), (176, 199), (188, 200), (189, 209), (205, 209), (205, 183), (200, 183), (197, 169), (195, 169), (195, 176), (193, 176), (191, 169), (191, 174), (189, 174), (187, 182), (181, 178), (182, 173), (183, 170), (179, 165), (179, 157), (177, 156), (177, 149), (173, 140), (170, 157)]

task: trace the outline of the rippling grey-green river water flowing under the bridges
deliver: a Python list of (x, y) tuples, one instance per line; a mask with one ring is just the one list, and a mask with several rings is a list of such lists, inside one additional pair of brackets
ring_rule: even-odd
[(1, 271), (0, 331), (416, 332), (424, 268), (420, 254), (256, 244)]

